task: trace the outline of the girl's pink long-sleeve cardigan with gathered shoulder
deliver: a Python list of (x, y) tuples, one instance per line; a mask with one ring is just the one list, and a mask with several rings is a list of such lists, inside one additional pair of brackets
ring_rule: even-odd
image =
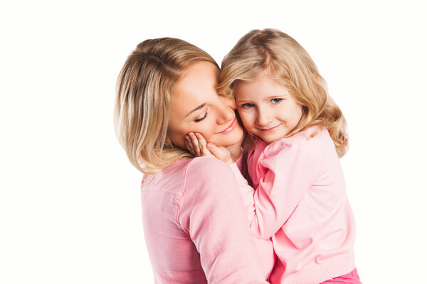
[(277, 255), (271, 283), (322, 283), (354, 269), (354, 217), (327, 130), (258, 139), (247, 165), (256, 189), (245, 201), (253, 202), (252, 233), (271, 237)]

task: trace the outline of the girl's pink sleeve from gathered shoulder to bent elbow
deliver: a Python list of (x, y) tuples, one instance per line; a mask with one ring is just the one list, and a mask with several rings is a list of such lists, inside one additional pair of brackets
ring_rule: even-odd
[(285, 145), (270, 158), (249, 163), (256, 163), (258, 175), (253, 195), (252, 234), (268, 239), (285, 224), (312, 186), (315, 164), (298, 144)]

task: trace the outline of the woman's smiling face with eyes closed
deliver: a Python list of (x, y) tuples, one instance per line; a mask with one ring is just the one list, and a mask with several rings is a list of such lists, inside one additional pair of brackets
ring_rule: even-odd
[(184, 136), (189, 132), (199, 132), (207, 142), (223, 147), (243, 138), (234, 112), (236, 104), (216, 92), (218, 72), (211, 62), (196, 62), (177, 83), (168, 129), (175, 146), (186, 148)]

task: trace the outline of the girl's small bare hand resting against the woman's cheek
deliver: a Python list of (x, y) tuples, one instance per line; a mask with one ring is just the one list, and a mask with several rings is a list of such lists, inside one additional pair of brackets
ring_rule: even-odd
[(196, 157), (211, 156), (225, 163), (231, 164), (230, 151), (224, 147), (217, 147), (213, 143), (206, 143), (206, 140), (200, 133), (189, 132), (185, 136), (186, 148)]

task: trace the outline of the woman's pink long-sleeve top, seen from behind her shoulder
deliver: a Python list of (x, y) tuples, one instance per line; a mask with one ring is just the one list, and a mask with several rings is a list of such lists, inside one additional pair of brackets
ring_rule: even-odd
[[(228, 165), (211, 157), (181, 159), (146, 175), (141, 189), (155, 283), (267, 283)], [(270, 247), (273, 258), (265, 244), (260, 247)]]

